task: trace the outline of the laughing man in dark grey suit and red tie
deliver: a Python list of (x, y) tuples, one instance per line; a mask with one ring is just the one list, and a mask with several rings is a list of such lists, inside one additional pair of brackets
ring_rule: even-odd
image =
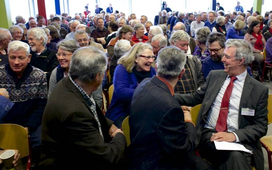
[[(221, 59), (225, 70), (212, 70), (200, 90), (193, 94), (175, 94), (175, 98), (181, 105), (202, 103), (196, 144), (214, 168), (251, 169), (253, 165), (263, 169), (259, 139), (267, 131), (268, 88), (246, 71), (254, 59), (250, 45), (242, 39), (228, 39), (225, 45)], [(253, 155), (216, 150), (214, 140), (240, 142), (253, 151)]]

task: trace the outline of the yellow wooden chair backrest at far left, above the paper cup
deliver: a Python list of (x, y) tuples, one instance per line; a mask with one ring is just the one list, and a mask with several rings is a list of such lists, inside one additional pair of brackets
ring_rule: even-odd
[(16, 149), (21, 158), (29, 155), (27, 130), (20, 125), (0, 124), (0, 147)]

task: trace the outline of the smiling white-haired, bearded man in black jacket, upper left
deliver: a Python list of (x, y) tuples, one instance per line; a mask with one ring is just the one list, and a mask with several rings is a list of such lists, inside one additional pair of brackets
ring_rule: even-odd
[(47, 35), (42, 28), (31, 28), (27, 31), (28, 44), (31, 47), (30, 64), (46, 72), (47, 82), (51, 72), (59, 65), (57, 51), (46, 47)]

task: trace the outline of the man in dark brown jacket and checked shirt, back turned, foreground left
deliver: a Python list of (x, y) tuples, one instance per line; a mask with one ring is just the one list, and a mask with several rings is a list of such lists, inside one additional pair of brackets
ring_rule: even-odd
[[(109, 169), (122, 159), (126, 137), (105, 118), (91, 94), (101, 85), (107, 64), (105, 53), (94, 47), (73, 53), (69, 76), (55, 86), (44, 110), (43, 169), (52, 168), (48, 160), (57, 169), (84, 169), (90, 160), (94, 169)], [(71, 155), (76, 155), (74, 161), (66, 164)]]

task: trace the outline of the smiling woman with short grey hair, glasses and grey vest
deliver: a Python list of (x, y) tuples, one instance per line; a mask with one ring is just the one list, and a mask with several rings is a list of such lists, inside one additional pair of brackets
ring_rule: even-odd
[(73, 52), (80, 48), (79, 44), (74, 39), (62, 40), (57, 44), (58, 53), (56, 57), (60, 65), (56, 67), (50, 76), (48, 98), (52, 93), (55, 85), (63, 78), (68, 76), (70, 61), (72, 59)]

